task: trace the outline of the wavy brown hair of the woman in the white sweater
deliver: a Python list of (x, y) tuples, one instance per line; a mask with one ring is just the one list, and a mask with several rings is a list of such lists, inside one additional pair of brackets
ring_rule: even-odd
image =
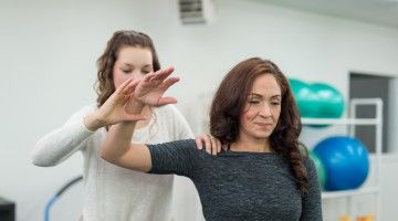
[(118, 56), (118, 52), (124, 46), (137, 46), (149, 49), (153, 54), (153, 67), (154, 71), (160, 70), (159, 60), (155, 50), (155, 45), (151, 39), (142, 32), (132, 30), (122, 30), (113, 34), (107, 42), (104, 53), (97, 60), (97, 82), (96, 92), (97, 106), (103, 105), (106, 99), (115, 92), (115, 85), (113, 81), (113, 67)]

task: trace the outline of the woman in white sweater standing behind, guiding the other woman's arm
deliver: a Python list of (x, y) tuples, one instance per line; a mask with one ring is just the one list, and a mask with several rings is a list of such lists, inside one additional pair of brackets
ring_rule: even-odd
[[(117, 31), (107, 42), (97, 65), (96, 104), (83, 107), (62, 127), (42, 137), (35, 144), (32, 161), (36, 166), (51, 167), (76, 151), (83, 154), (84, 221), (170, 220), (174, 176), (135, 172), (108, 164), (100, 155), (107, 133), (98, 118), (101, 107), (127, 80), (139, 80), (147, 73), (160, 70), (154, 44), (144, 33)], [(128, 113), (128, 109), (125, 110)], [(193, 136), (186, 119), (172, 105), (146, 106), (140, 117), (145, 119), (137, 124), (138, 129), (133, 137), (136, 143), (157, 144)], [(207, 136), (197, 140), (206, 140), (207, 144), (210, 140), (213, 151), (219, 148), (218, 143)], [(197, 199), (195, 193), (190, 198)], [(200, 208), (199, 201), (187, 204)], [(196, 211), (188, 218), (190, 220), (202, 217), (198, 209), (186, 209)]]

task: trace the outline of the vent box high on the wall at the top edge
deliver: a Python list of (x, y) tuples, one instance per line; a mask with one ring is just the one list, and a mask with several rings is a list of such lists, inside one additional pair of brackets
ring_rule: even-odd
[(213, 19), (212, 0), (178, 0), (182, 24), (209, 24)]

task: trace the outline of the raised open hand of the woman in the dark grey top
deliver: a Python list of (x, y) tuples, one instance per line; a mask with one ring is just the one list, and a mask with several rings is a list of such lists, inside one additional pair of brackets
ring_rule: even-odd
[(178, 77), (170, 77), (174, 67), (168, 67), (145, 75), (136, 85), (129, 103), (139, 102), (150, 106), (177, 103), (175, 97), (163, 96), (171, 85), (179, 81)]

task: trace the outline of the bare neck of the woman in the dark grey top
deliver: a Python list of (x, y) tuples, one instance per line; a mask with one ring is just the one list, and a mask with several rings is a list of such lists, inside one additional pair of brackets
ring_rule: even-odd
[(271, 152), (271, 146), (268, 139), (248, 139), (238, 138), (230, 147), (233, 151), (250, 151), (250, 152)]

